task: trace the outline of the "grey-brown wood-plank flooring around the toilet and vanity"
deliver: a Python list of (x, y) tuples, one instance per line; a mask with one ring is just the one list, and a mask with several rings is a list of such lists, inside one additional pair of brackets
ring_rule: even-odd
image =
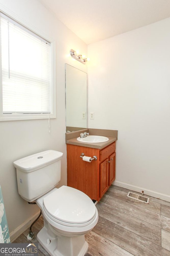
[[(170, 256), (170, 202), (149, 197), (146, 204), (126, 197), (128, 191), (111, 185), (96, 204), (99, 221), (86, 235), (86, 255)], [(42, 227), (41, 217), (32, 227), (34, 242)], [(28, 243), (28, 233), (29, 229), (14, 243)], [(40, 244), (39, 255), (49, 256)]]

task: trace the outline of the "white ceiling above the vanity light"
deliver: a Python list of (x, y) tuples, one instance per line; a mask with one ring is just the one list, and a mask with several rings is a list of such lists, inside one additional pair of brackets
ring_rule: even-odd
[(170, 0), (39, 0), (86, 44), (170, 17)]

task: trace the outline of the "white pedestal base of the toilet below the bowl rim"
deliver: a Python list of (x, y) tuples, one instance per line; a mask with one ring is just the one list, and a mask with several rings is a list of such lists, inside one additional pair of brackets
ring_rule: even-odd
[(84, 256), (88, 251), (84, 235), (56, 235), (46, 226), (37, 234), (37, 240), (51, 256)]

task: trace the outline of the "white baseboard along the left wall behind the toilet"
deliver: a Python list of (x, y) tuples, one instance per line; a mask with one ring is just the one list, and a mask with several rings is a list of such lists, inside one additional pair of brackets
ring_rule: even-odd
[(32, 222), (38, 217), (40, 213), (36, 213), (35, 215), (33, 215), (32, 217), (30, 217), (29, 219), (27, 219), (25, 222), (23, 222), (19, 227), (17, 227), (15, 230), (13, 230), (10, 233), (10, 241), (11, 243), (15, 241), (15, 239), (17, 237), (19, 237), (19, 235), (21, 235), (26, 229), (28, 229), (28, 227), (31, 226)]

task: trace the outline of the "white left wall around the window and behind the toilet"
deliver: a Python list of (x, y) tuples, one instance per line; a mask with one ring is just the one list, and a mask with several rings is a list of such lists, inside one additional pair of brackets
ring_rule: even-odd
[(10, 233), (15, 233), (24, 222), (35, 215), (39, 209), (28, 205), (19, 195), (16, 183), (16, 170), (13, 161), (53, 149), (63, 152), (61, 182), (66, 185), (66, 145), (65, 145), (65, 63), (87, 72), (87, 66), (71, 58), (70, 49), (87, 55), (87, 45), (58, 21), (37, 0), (0, 0), (0, 10), (18, 15), (43, 34), (56, 41), (57, 72), (57, 118), (50, 120), (26, 120), (0, 122), (0, 185), (5, 203)]

